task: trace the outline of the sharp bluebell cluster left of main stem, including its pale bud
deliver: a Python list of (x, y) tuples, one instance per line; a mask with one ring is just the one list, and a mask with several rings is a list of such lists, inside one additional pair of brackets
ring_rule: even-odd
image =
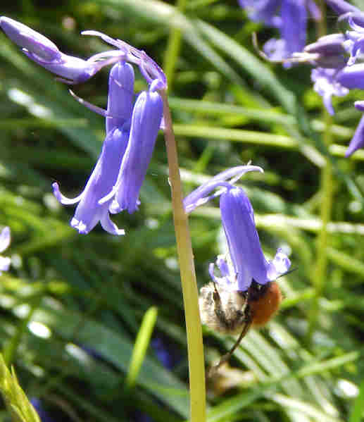
[[(78, 99), (106, 119), (106, 138), (86, 187), (74, 199), (61, 194), (56, 182), (53, 189), (61, 204), (78, 203), (70, 222), (78, 232), (86, 234), (100, 222), (107, 232), (123, 235), (124, 230), (111, 221), (110, 213), (134, 213), (138, 209), (139, 191), (163, 118), (163, 100), (158, 92), (167, 87), (163, 70), (144, 51), (100, 32), (82, 34), (101, 37), (117, 49), (84, 61), (61, 53), (49, 39), (13, 19), (1, 17), (0, 26), (24, 54), (68, 84), (84, 82), (103, 66), (115, 63), (109, 75), (106, 110)], [(149, 89), (139, 93), (135, 101), (130, 63), (139, 67), (149, 84)]]

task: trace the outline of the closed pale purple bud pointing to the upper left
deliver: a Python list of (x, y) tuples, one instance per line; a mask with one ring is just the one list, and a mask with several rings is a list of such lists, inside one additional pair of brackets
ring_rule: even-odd
[(120, 50), (113, 50), (82, 60), (63, 54), (50, 39), (16, 20), (1, 16), (0, 26), (11, 40), (22, 48), (26, 56), (46, 70), (61, 76), (59, 79), (68, 84), (88, 80), (103, 66), (115, 63), (123, 56)]

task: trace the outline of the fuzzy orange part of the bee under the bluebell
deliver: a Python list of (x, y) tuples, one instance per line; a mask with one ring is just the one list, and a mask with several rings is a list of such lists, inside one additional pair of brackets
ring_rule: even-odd
[(270, 318), (280, 308), (281, 302), (282, 293), (280, 287), (278, 287), (275, 281), (272, 281), (267, 291), (258, 300), (251, 302), (252, 325), (254, 327), (260, 327), (268, 323)]

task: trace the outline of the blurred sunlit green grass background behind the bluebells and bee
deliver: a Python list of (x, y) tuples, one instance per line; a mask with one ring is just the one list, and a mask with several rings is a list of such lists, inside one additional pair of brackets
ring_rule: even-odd
[[(335, 99), (330, 122), (309, 66), (284, 70), (258, 58), (252, 32), (260, 44), (275, 32), (249, 21), (234, 0), (6, 0), (1, 14), (66, 54), (108, 49), (80, 36), (99, 30), (161, 64), (186, 194), (230, 166), (251, 161), (265, 169), (240, 183), (266, 256), (284, 247), (296, 271), (279, 280), (280, 313), (268, 328), (251, 330), (231, 368), (208, 384), (209, 421), (360, 421), (364, 154), (343, 157), (360, 118), (353, 101), (363, 93)], [(329, 32), (335, 25), (328, 11)], [(311, 42), (315, 33), (308, 22)], [(146, 85), (136, 74), (139, 91)], [(107, 80), (103, 69), (73, 90), (104, 107)], [(69, 226), (74, 208), (51, 193), (54, 181), (69, 197), (82, 192), (101, 151), (103, 118), (3, 33), (0, 129), (0, 224), (11, 227), (4, 255), (13, 258), (0, 280), (0, 342), (28, 397), (53, 421), (185, 420), (187, 348), (162, 134), (140, 211), (113, 216), (126, 230), (113, 237), (99, 225), (79, 235)], [(194, 211), (190, 225), (201, 287), (222, 252), (218, 204)], [(151, 306), (156, 325), (152, 309), (140, 333), (151, 345), (140, 372), (130, 374)], [(204, 333), (210, 365), (233, 340)], [(134, 387), (126, 387), (127, 376), (137, 376)], [(8, 421), (5, 410), (0, 419)]]

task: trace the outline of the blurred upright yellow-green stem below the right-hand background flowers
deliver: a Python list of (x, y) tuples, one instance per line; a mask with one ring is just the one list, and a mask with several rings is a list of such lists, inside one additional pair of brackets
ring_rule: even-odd
[[(322, 13), (322, 19), (319, 23), (319, 37), (322, 37), (326, 34), (326, 24), (325, 24), (325, 2), (320, 0), (319, 6)], [(324, 132), (324, 142), (329, 148), (332, 144), (332, 118), (329, 113), (327, 113), (325, 106), (322, 104), (322, 113), (323, 120), (325, 121), (325, 132)], [(321, 207), (320, 207), (320, 218), (322, 221), (322, 228), (318, 234), (317, 244), (316, 244), (316, 256), (317, 260), (315, 262), (315, 267), (312, 273), (312, 283), (315, 289), (315, 296), (313, 297), (312, 306), (310, 309), (310, 314), (308, 316), (308, 330), (306, 340), (308, 344), (312, 341), (312, 335), (315, 331), (315, 325), (318, 321), (319, 313), (319, 300), (324, 291), (325, 283), (327, 279), (327, 247), (329, 246), (327, 232), (327, 224), (330, 223), (331, 214), (332, 214), (332, 200), (333, 200), (333, 190), (334, 190), (334, 180), (332, 175), (332, 164), (330, 160), (327, 160), (325, 166), (321, 170), (321, 182), (320, 182), (320, 194), (321, 194)]]

